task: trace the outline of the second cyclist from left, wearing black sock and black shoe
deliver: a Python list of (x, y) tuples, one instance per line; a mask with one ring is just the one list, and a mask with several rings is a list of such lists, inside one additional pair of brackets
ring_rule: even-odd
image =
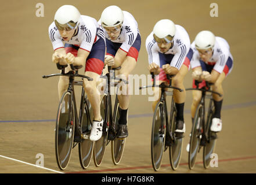
[[(131, 13), (122, 11), (118, 6), (109, 6), (103, 10), (99, 24), (104, 28), (104, 35), (106, 36), (106, 64), (112, 68), (121, 65), (121, 69), (116, 74), (128, 80), (129, 73), (135, 68), (140, 50), (141, 40), (138, 23)], [(120, 139), (128, 136), (128, 85), (126, 90), (126, 92), (122, 91), (122, 94), (118, 95), (121, 111), (117, 138)]]

